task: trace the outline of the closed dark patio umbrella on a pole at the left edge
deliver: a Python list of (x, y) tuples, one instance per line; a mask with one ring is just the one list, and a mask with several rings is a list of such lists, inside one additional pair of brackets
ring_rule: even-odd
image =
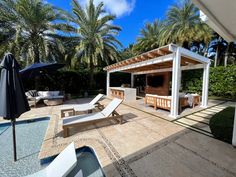
[(19, 76), (20, 66), (11, 53), (7, 53), (1, 64), (0, 116), (11, 120), (13, 133), (14, 161), (16, 161), (15, 121), (22, 113), (29, 111), (25, 90)]

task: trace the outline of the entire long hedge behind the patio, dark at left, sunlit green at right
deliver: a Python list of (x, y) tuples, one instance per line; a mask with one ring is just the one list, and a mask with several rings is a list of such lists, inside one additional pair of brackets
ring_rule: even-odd
[[(182, 72), (182, 91), (202, 92), (202, 70), (191, 70)], [(111, 86), (120, 86), (123, 83), (130, 83), (130, 74), (112, 73)], [(95, 89), (106, 90), (106, 72), (95, 72)], [(26, 90), (35, 89), (33, 79), (24, 78)], [(93, 92), (89, 88), (88, 71), (58, 71), (41, 77), (39, 89), (64, 90), (66, 93), (83, 94), (84, 91)], [(96, 92), (96, 91), (95, 91)], [(209, 95), (225, 98), (236, 98), (236, 66), (216, 67), (210, 69)]]

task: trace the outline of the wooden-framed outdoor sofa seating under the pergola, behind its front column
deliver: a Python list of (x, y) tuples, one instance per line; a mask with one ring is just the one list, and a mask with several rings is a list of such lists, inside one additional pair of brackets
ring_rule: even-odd
[[(146, 105), (151, 105), (156, 110), (157, 108), (170, 110), (171, 109), (171, 96), (160, 96), (154, 94), (146, 94), (144, 98)], [(195, 107), (200, 103), (200, 95), (198, 94), (179, 94), (179, 111), (181, 112), (184, 107)]]

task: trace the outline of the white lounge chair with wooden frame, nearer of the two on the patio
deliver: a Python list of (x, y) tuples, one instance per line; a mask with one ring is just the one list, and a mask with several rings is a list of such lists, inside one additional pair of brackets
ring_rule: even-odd
[[(70, 127), (76, 127), (82, 124), (91, 124), (103, 120), (115, 119), (122, 124), (123, 116), (119, 115), (115, 110), (123, 100), (114, 98), (101, 112), (83, 114), (77, 116), (66, 117), (62, 121), (64, 138), (69, 134)], [(111, 116), (112, 115), (112, 116)], [(109, 117), (110, 116), (110, 117)]]

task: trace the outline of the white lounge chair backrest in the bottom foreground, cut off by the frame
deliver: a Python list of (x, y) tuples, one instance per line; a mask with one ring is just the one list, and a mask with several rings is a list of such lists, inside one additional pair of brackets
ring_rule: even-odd
[(75, 145), (72, 142), (46, 168), (27, 177), (65, 177), (76, 166)]

